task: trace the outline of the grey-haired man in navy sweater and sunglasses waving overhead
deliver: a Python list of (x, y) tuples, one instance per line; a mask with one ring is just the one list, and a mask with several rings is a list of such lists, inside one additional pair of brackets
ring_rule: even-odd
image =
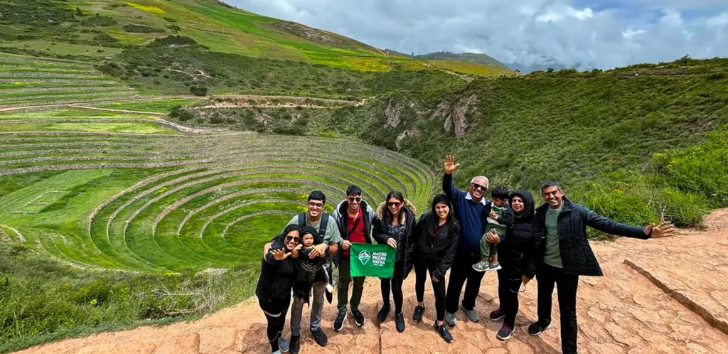
[[(460, 164), (455, 163), (454, 157), (449, 155), (445, 157), (443, 192), (453, 203), (455, 218), (461, 228), (455, 260), (450, 268), (450, 281), (446, 294), (445, 322), (451, 327), (457, 323), (455, 312), (458, 310), (458, 305), (468, 319), (478, 322), (478, 314), (475, 313), (475, 298), (478, 297), (480, 280), (483, 280), (485, 273), (472, 269), (472, 264), (480, 261), (480, 239), (486, 232), (486, 221), (483, 218), (488, 216), (486, 208), (489, 208), (490, 205), (485, 197), (486, 191), (488, 191), (488, 178), (486, 177), (472, 178), (467, 192), (455, 188), (452, 174), (459, 167)], [(497, 235), (486, 237), (490, 243), (499, 242)], [(465, 285), (465, 294), (462, 296), (462, 303), (458, 304), (463, 285)]]

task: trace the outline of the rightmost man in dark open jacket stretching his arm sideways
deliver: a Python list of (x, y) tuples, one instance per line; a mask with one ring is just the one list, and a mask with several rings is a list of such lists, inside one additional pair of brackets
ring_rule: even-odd
[[(577, 286), (579, 275), (601, 276), (601, 267), (587, 240), (587, 226), (610, 235), (642, 240), (672, 236), (669, 222), (633, 227), (600, 216), (589, 208), (567, 199), (561, 186), (546, 182), (541, 186), (545, 203), (536, 209), (534, 231), (544, 235), (534, 256), (538, 282), (538, 315), (529, 326), (529, 334), (538, 335), (551, 326), (551, 296), (558, 287), (558, 310), (561, 317), (561, 350), (577, 353)], [(529, 279), (523, 277), (523, 283)]]

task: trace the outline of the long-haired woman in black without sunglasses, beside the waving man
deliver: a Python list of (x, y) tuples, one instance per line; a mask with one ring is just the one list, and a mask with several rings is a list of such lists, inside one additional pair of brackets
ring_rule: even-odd
[(417, 306), (412, 319), (419, 323), (424, 313), (424, 282), (430, 272), (432, 290), (435, 292), (437, 320), (433, 326), (440, 337), (451, 343), (453, 337), (444, 324), (445, 320), (445, 273), (452, 265), (460, 237), (460, 225), (455, 220), (450, 200), (445, 194), (435, 195), (432, 212), (422, 215), (410, 235), (405, 254), (405, 278), (414, 267)]

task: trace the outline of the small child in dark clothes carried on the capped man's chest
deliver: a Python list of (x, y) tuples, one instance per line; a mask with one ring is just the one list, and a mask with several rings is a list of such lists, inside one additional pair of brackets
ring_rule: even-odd
[[(301, 232), (301, 243), (300, 248), (296, 248), (297, 251), (291, 255), (298, 260), (299, 266), (296, 283), (293, 283), (293, 296), (306, 300), (308, 304), (313, 283), (325, 281), (328, 284), (328, 274), (323, 267), (326, 264), (326, 257), (309, 257), (314, 245), (323, 243), (323, 237), (313, 227), (304, 227)], [(327, 290), (331, 291), (328, 286)]]

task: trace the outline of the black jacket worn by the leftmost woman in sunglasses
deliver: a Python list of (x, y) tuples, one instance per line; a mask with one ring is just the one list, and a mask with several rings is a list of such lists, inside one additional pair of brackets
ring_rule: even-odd
[(270, 251), (261, 261), (261, 275), (256, 286), (256, 296), (263, 302), (278, 302), (288, 299), (296, 281), (296, 260), (292, 257), (277, 261), (273, 250), (283, 248), (280, 238), (273, 241)]

